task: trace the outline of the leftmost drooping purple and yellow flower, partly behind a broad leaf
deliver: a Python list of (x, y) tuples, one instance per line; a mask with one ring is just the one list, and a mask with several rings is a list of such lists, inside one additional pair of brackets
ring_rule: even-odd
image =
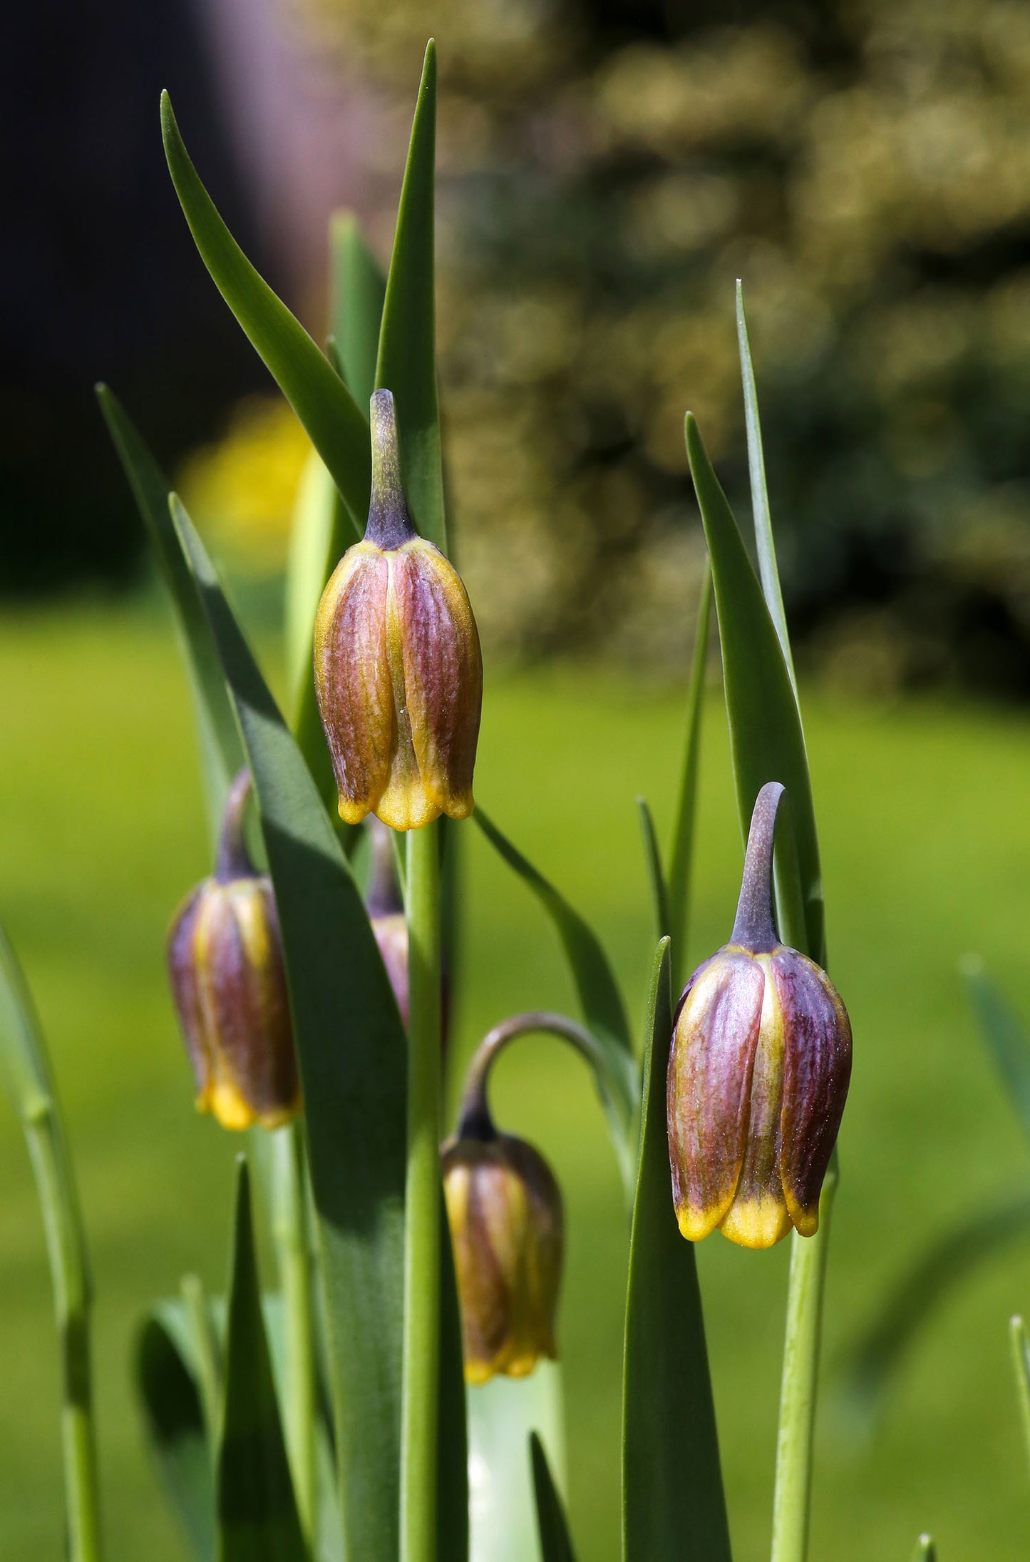
[(278, 1128), (300, 1111), (290, 1006), (272, 881), (243, 842), (245, 770), (225, 808), (214, 878), (179, 908), (169, 979), (197, 1081), (223, 1128)]

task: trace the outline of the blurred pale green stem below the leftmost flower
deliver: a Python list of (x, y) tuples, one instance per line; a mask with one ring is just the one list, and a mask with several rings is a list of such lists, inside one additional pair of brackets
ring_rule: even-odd
[(315, 1343), (304, 1136), (298, 1120), (272, 1136), (272, 1236), (286, 1311), (286, 1443), (297, 1512), (311, 1548), (315, 1528)]

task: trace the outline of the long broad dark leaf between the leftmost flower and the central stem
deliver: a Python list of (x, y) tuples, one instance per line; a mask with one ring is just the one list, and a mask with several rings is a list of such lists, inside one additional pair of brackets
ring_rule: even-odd
[(406, 1037), (315, 783), (189, 517), (175, 530), (240, 723), (275, 884), (318, 1215), (348, 1556), (395, 1562)]

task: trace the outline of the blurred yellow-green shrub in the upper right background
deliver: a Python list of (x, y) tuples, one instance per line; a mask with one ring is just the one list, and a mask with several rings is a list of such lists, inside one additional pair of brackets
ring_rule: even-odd
[[(297, 3), (350, 70), (410, 89), (423, 6)], [(802, 656), (1030, 694), (1030, 8), (442, 0), (431, 22), (449, 480), (495, 650), (682, 658), (682, 414), (744, 508), (743, 276)]]

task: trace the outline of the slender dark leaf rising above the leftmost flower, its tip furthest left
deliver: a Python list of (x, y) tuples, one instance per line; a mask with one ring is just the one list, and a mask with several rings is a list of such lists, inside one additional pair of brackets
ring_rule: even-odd
[(222, 828), (226, 793), (243, 764), (240, 734), (197, 586), (169, 526), (169, 484), (114, 392), (108, 386), (97, 386), (97, 400), (175, 609), (179, 648), (189, 670), (208, 829), (214, 847)]

